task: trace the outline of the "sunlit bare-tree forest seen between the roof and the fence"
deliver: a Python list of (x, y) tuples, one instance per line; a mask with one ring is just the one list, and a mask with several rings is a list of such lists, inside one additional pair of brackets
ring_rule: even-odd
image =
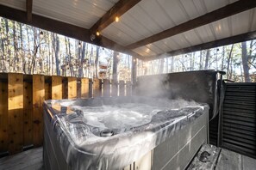
[[(131, 79), (134, 61), (127, 54), (2, 17), (0, 33), (0, 72), (111, 79), (114, 65), (118, 80)], [(224, 79), (256, 82), (256, 40), (148, 62), (137, 59), (137, 76), (189, 70), (223, 70)]]

